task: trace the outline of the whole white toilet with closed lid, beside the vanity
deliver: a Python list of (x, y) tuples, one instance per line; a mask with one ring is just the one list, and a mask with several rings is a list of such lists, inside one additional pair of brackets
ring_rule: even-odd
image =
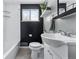
[(38, 42), (31, 42), (29, 44), (29, 48), (32, 50), (31, 58), (32, 59), (39, 59), (40, 49), (43, 48), (42, 44), (40, 44)]

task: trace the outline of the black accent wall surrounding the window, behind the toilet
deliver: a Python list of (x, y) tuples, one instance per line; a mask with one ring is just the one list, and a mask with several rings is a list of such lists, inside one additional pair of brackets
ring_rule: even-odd
[[(38, 9), (39, 21), (23, 21), (23, 9)], [(30, 42), (42, 43), (41, 34), (43, 33), (43, 19), (40, 18), (40, 15), (41, 11), (39, 4), (21, 4), (21, 45), (29, 45)], [(32, 17), (29, 18), (30, 20), (32, 19)]]

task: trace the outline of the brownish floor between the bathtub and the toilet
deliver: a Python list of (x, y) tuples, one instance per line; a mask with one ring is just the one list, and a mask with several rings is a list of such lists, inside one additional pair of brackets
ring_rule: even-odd
[(16, 59), (31, 59), (31, 50), (29, 48), (20, 48)]

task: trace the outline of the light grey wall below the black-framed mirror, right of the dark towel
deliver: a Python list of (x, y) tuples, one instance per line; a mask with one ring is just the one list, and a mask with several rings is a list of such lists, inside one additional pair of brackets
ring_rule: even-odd
[(59, 30), (62, 30), (64, 32), (76, 34), (76, 14), (64, 18), (56, 19), (55, 30), (57, 32)]

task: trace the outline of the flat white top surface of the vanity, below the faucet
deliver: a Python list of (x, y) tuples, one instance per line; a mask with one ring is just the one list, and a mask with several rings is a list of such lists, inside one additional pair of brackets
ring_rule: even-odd
[(61, 35), (60, 33), (44, 33), (41, 35), (41, 37), (51, 39), (51, 40), (63, 41), (64, 43), (75, 43), (76, 42), (76, 38), (64, 36), (64, 35)]

